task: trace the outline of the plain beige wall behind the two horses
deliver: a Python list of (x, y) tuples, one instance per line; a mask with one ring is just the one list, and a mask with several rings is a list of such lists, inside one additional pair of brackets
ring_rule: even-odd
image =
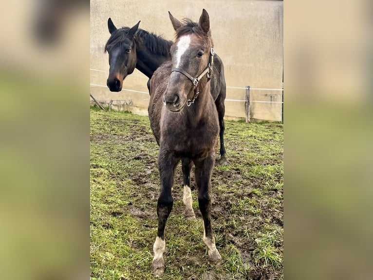
[[(140, 28), (165, 39), (174, 39), (168, 11), (181, 20), (198, 21), (202, 9), (210, 16), (214, 49), (225, 68), (227, 96), (225, 115), (245, 116), (245, 86), (252, 88), (282, 88), (283, 1), (277, 0), (91, 0), (91, 93), (97, 100), (126, 103), (132, 112), (147, 114), (148, 78), (137, 69), (123, 83), (122, 90), (110, 92), (106, 87), (109, 62), (104, 46), (110, 34), (107, 20), (116, 27), (133, 26), (141, 20)], [(281, 101), (280, 91), (251, 90), (251, 101)], [(130, 108), (128, 107), (128, 108)], [(251, 118), (281, 120), (281, 103), (251, 102)]]

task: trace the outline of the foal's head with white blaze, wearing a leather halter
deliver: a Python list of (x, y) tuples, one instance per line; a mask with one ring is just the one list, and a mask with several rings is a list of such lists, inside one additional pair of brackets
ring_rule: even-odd
[[(209, 72), (205, 70), (209, 63), (212, 66), (213, 43), (205, 9), (198, 23), (187, 19), (182, 23), (170, 13), (169, 18), (176, 31), (176, 41), (171, 46), (172, 72), (163, 101), (168, 110), (179, 112), (186, 104), (193, 103), (198, 87), (202, 89), (205, 86)], [(193, 83), (195, 78), (200, 80), (198, 86)]]

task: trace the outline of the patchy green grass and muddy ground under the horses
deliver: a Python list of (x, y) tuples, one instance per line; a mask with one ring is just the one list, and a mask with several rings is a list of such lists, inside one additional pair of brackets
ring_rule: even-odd
[[(184, 219), (179, 166), (161, 279), (282, 279), (282, 124), (225, 125), (228, 164), (216, 165), (211, 181), (212, 225), (224, 263), (208, 262), (196, 190), (197, 220)], [(153, 279), (157, 154), (148, 117), (91, 109), (92, 280)]]

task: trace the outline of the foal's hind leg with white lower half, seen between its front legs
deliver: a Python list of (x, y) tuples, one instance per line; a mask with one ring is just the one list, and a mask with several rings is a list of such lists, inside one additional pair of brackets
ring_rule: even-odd
[(181, 159), (183, 177), (184, 177), (184, 194), (183, 203), (185, 207), (185, 218), (186, 220), (195, 220), (193, 206), (192, 206), (192, 193), (190, 190), (190, 170), (192, 169), (193, 162), (188, 158)]

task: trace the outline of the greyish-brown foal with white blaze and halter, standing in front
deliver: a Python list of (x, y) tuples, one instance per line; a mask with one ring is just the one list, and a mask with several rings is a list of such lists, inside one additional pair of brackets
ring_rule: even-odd
[[(204, 9), (198, 23), (191, 20), (182, 23), (170, 13), (169, 17), (176, 31), (176, 41), (170, 50), (172, 61), (162, 64), (150, 80), (150, 126), (160, 146), (158, 167), (161, 190), (157, 203), (158, 232), (152, 262), (156, 276), (164, 272), (164, 232), (173, 205), (175, 169), (181, 159), (183, 169), (190, 168), (192, 163), (195, 165), (198, 203), (204, 220), (203, 240), (208, 249), (208, 259), (213, 262), (222, 260), (215, 246), (210, 213), (211, 172), (215, 162), (219, 118), (209, 82), (214, 74), (209, 16)], [(187, 185), (184, 186), (183, 201), (189, 211), (193, 212), (191, 192)]]

